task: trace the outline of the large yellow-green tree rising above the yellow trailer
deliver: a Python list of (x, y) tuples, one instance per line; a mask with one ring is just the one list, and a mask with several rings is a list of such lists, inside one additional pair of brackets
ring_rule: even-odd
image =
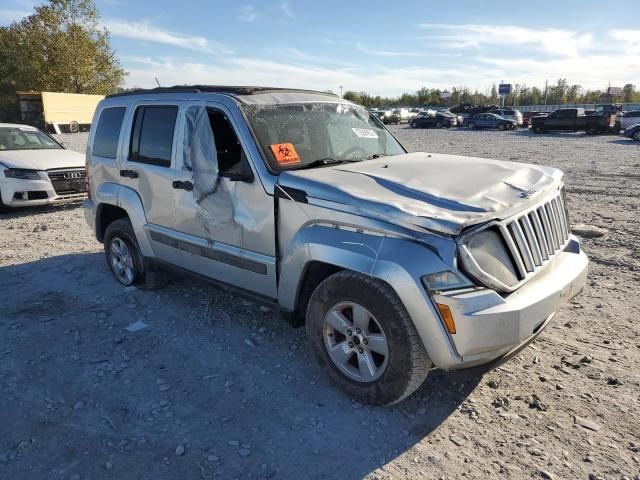
[(118, 90), (126, 72), (111, 48), (109, 32), (99, 25), (93, 0), (49, 0), (34, 11), (0, 27), (0, 95), (15, 99), (21, 90)]

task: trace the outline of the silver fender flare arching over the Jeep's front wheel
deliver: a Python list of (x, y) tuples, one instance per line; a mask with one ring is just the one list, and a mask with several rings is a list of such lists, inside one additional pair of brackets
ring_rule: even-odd
[(282, 308), (289, 311), (297, 308), (310, 262), (371, 275), (394, 289), (436, 365), (460, 361), (421, 282), (426, 274), (451, 268), (436, 251), (406, 238), (316, 224), (298, 231), (282, 254), (278, 285)]

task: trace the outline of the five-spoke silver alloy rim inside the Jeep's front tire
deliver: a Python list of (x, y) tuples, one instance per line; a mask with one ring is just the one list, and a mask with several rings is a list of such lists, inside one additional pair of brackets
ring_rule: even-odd
[(323, 335), (329, 358), (347, 377), (372, 382), (384, 373), (389, 359), (387, 337), (362, 305), (340, 302), (330, 308)]

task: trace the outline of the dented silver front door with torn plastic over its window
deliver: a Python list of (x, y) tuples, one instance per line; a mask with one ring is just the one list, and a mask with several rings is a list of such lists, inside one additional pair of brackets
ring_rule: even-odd
[[(195, 123), (198, 115), (203, 121), (203, 109), (215, 125)], [(175, 245), (184, 268), (275, 298), (273, 200), (255, 173), (253, 181), (241, 181), (229, 171), (229, 159), (241, 158), (253, 172), (246, 139), (236, 132), (223, 106), (192, 104), (181, 112)]]

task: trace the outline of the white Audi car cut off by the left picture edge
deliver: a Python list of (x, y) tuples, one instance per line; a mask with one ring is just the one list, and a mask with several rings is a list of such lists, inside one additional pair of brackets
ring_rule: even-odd
[(37, 128), (0, 123), (0, 210), (82, 200), (84, 163)]

